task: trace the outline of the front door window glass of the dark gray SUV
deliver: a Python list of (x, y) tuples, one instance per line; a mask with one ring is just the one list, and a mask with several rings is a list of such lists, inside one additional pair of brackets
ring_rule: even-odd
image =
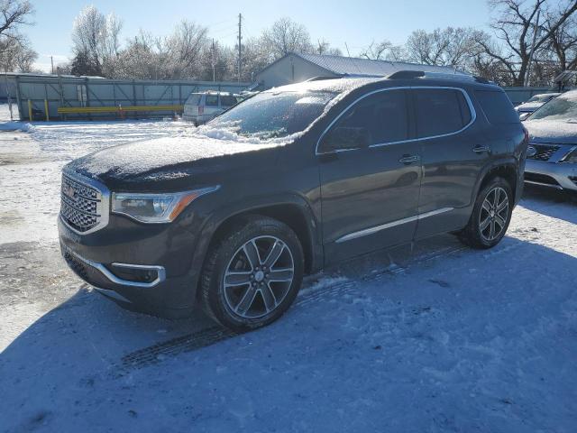
[[(339, 131), (343, 134), (348, 131), (362, 131), (368, 141), (365, 144), (368, 145), (407, 140), (406, 92), (404, 90), (385, 90), (363, 98), (349, 108), (331, 127), (332, 133), (336, 134)], [(352, 147), (362, 146), (353, 145)]]

